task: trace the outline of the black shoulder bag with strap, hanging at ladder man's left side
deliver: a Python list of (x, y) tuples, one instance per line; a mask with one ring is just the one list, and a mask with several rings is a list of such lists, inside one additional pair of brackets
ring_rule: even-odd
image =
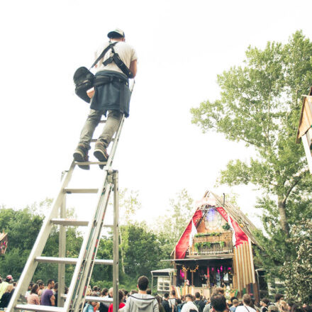
[[(104, 57), (106, 52), (109, 49), (113, 48), (114, 45), (116, 45), (116, 43), (117, 42), (111, 43), (110, 45), (108, 45), (108, 47), (106, 47), (103, 50), (103, 52), (101, 52), (101, 55), (95, 60), (95, 62), (90, 67), (90, 69), (94, 67), (96, 63), (99, 62), (99, 60), (101, 60), (102, 57)], [(76, 70), (76, 72), (74, 72), (73, 79), (74, 79), (74, 84), (76, 86), (74, 91), (77, 94), (77, 96), (79, 96), (79, 98), (83, 99), (87, 103), (90, 103), (91, 99), (89, 98), (87, 91), (91, 89), (92, 87), (94, 87), (94, 74), (92, 74), (90, 70), (87, 69), (87, 67), (79, 67)]]

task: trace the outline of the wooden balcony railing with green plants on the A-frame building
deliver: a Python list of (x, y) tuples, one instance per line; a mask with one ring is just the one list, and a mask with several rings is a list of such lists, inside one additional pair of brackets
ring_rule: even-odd
[(233, 252), (233, 233), (223, 232), (215, 235), (194, 237), (189, 255), (220, 255)]

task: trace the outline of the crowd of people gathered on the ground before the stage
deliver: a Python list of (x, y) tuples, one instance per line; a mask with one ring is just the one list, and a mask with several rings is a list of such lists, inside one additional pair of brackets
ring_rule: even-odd
[[(174, 290), (163, 296), (152, 295), (148, 288), (149, 280), (142, 276), (138, 278), (137, 289), (127, 291), (118, 290), (118, 310), (120, 312), (312, 312), (312, 306), (303, 303), (299, 306), (294, 301), (285, 301), (284, 295), (277, 294), (272, 303), (269, 299), (263, 298), (260, 303), (255, 302), (249, 294), (244, 294), (242, 299), (236, 297), (225, 299), (225, 290), (217, 287), (211, 298), (205, 298), (195, 293), (186, 294), (179, 298)], [(9, 305), (9, 301), (16, 287), (13, 277), (8, 275), (6, 279), (0, 277), (0, 309)], [(67, 294), (65, 287), (65, 294)], [(43, 280), (30, 282), (25, 299), (29, 304), (43, 306), (58, 306), (57, 303), (58, 284), (54, 279), (48, 279), (45, 284)], [(100, 289), (99, 286), (91, 286), (87, 289), (87, 296), (103, 297), (103, 302), (86, 301), (83, 312), (113, 312), (113, 288)], [(107, 299), (105, 301), (105, 299)]]

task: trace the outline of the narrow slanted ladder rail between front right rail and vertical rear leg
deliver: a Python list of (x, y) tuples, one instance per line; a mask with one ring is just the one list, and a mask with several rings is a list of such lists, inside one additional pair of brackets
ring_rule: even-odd
[(96, 222), (96, 228), (94, 230), (94, 236), (92, 238), (91, 246), (88, 249), (88, 255), (86, 256), (86, 264), (84, 274), (82, 274), (82, 278), (79, 279), (80, 286), (78, 287), (77, 293), (77, 302), (72, 307), (73, 311), (79, 311), (81, 308), (80, 303), (84, 303), (84, 297), (86, 296), (87, 287), (89, 285), (91, 275), (94, 268), (94, 263), (96, 262), (96, 254), (99, 249), (99, 242), (101, 239), (101, 230), (104, 225), (104, 217), (106, 215), (106, 208), (108, 206), (109, 196), (111, 194), (111, 190), (113, 189), (113, 184), (110, 184), (108, 196), (103, 196), (101, 202), (99, 203), (99, 207), (101, 207), (99, 211), (98, 221)]

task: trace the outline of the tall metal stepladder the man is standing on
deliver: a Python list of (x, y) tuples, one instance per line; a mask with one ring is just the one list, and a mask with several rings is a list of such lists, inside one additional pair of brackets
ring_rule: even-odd
[[(133, 84), (134, 86), (134, 84)], [(131, 88), (131, 93), (133, 90)], [(113, 312), (118, 311), (118, 171), (112, 169), (113, 158), (116, 153), (118, 140), (121, 135), (125, 116), (122, 117), (118, 126), (113, 146), (107, 162), (75, 162), (72, 161), (69, 170), (62, 177), (60, 191), (55, 197), (52, 208), (48, 216), (43, 221), (33, 249), (30, 252), (26, 265), (23, 269), (18, 285), (13, 293), (11, 301), (6, 311), (45, 311), (45, 312), (79, 312), (84, 308), (84, 301), (99, 301), (113, 303)], [(104, 123), (105, 121), (100, 121)], [(96, 140), (92, 140), (94, 142)], [(67, 186), (72, 178), (72, 174), (77, 165), (106, 165), (104, 167), (104, 177), (99, 189), (69, 189)], [(113, 191), (113, 225), (105, 225), (104, 217), (108, 206), (108, 199)], [(65, 199), (67, 194), (97, 194), (97, 204), (91, 221), (82, 221), (66, 218)], [(60, 225), (59, 257), (41, 257), (43, 248), (48, 240), (53, 225)], [(66, 226), (87, 226), (81, 250), (78, 258), (65, 257), (66, 251)], [(99, 247), (101, 229), (104, 226), (113, 227), (113, 260), (97, 260), (96, 252)], [(25, 294), (28, 285), (33, 278), (35, 269), (39, 262), (49, 262), (58, 264), (58, 304), (56, 306), (38, 306), (26, 304)], [(65, 264), (76, 264), (72, 281), (69, 285), (67, 295), (62, 294), (65, 289)], [(113, 265), (113, 300), (101, 297), (86, 296), (87, 287), (91, 279), (94, 264)]]

